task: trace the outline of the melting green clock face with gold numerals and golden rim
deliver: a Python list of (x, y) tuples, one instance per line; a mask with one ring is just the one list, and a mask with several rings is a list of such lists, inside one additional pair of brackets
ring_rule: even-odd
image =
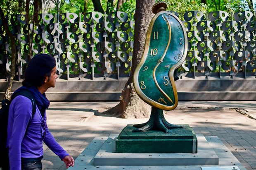
[(170, 12), (157, 13), (149, 25), (142, 60), (133, 77), (140, 98), (159, 109), (175, 109), (178, 95), (173, 72), (186, 55), (187, 34), (183, 23)]

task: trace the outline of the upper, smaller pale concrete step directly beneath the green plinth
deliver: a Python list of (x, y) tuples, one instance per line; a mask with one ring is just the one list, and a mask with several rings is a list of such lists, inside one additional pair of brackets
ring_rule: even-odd
[(131, 154), (115, 153), (116, 135), (110, 135), (94, 157), (94, 165), (111, 166), (170, 166), (170, 165), (218, 165), (218, 156), (203, 135), (198, 135), (198, 153), (179, 154)]

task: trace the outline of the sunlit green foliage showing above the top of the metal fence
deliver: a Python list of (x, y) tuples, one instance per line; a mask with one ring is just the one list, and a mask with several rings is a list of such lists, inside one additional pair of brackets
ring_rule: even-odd
[[(48, 0), (42, 0), (47, 2)], [(51, 0), (55, 3), (55, 7), (46, 9), (48, 13), (57, 13), (57, 0)], [(116, 11), (117, 1), (114, 0), (113, 6), (109, 7), (109, 11)], [(160, 0), (156, 0), (159, 2)], [(213, 12), (218, 10), (237, 12), (249, 10), (248, 0), (206, 0), (206, 4), (201, 3), (201, 0), (161, 0), (166, 2), (167, 10), (176, 11), (180, 15), (187, 11), (202, 11)], [(32, 1), (31, 1), (32, 2)], [(102, 7), (104, 11), (107, 10), (107, 0), (102, 0)], [(25, 0), (24, 0), (25, 3)], [(19, 1), (17, 0), (1, 0), (0, 5), (4, 14), (19, 14)], [(256, 4), (253, 5), (254, 7)], [(84, 10), (85, 8), (85, 10)], [(136, 0), (125, 0), (119, 11), (126, 12), (129, 16), (135, 13)], [(24, 13), (25, 9), (21, 9)], [(93, 12), (94, 6), (92, 0), (59, 0), (59, 13), (72, 12), (83, 13)]]

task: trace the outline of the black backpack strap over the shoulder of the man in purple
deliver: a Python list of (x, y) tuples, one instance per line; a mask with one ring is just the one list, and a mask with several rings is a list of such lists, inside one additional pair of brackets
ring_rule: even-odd
[[(34, 96), (31, 94), (30, 91), (28, 91), (28, 90), (26, 90), (26, 89), (23, 89), (23, 90), (18, 91), (17, 93), (14, 93), (14, 94), (12, 95), (11, 102), (12, 102), (12, 100), (13, 100), (15, 97), (17, 97), (18, 95), (23, 95), (23, 96), (25, 96), (25, 97), (27, 97), (27, 98), (29, 98), (29, 99), (31, 100), (31, 103), (32, 103), (32, 119), (33, 119), (33, 117), (34, 117), (35, 114), (36, 114), (36, 101), (35, 101), (35, 99), (34, 99)], [(32, 120), (32, 119), (31, 119), (31, 120)], [(28, 126), (27, 126), (27, 128), (26, 128), (25, 135), (26, 135), (26, 133), (28, 132), (28, 127), (29, 127), (30, 123), (31, 123), (31, 121), (28, 122)]]

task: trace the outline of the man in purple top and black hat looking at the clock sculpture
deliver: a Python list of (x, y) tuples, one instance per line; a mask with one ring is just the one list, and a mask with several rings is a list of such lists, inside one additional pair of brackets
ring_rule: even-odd
[[(14, 92), (28, 91), (32, 100), (17, 95), (9, 107), (7, 147), (9, 147), (10, 170), (42, 170), (43, 142), (59, 158), (66, 168), (74, 165), (74, 159), (54, 139), (46, 123), (46, 109), (50, 102), (45, 92), (55, 87), (56, 62), (48, 54), (35, 55), (28, 64), (22, 87)], [(32, 113), (33, 103), (36, 112)]]

